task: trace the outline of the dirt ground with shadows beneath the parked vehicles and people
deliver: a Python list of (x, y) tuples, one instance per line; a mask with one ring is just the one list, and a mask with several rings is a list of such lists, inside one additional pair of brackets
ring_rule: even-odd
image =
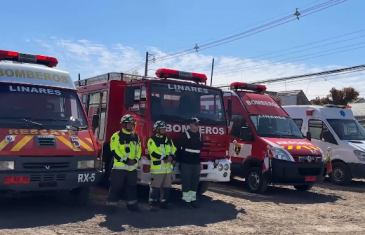
[(130, 213), (121, 203), (111, 216), (104, 213), (106, 190), (100, 188), (86, 208), (63, 196), (2, 199), (0, 234), (365, 234), (365, 182), (324, 182), (309, 192), (276, 186), (265, 195), (248, 193), (242, 184), (214, 184), (195, 210), (182, 207), (176, 190), (174, 210), (150, 212), (141, 190), (141, 212)]

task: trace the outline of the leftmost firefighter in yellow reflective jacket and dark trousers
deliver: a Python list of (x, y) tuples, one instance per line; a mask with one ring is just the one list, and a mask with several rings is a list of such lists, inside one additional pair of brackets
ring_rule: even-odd
[(107, 199), (108, 212), (115, 212), (120, 194), (126, 193), (127, 208), (139, 210), (137, 204), (137, 166), (141, 158), (141, 142), (135, 134), (136, 119), (127, 114), (122, 117), (122, 130), (113, 134), (110, 150), (114, 165), (110, 175), (110, 189)]

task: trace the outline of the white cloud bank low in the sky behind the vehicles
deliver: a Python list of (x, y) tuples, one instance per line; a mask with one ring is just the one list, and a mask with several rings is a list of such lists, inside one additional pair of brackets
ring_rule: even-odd
[[(56, 56), (59, 60), (58, 67), (69, 71), (74, 79), (77, 78), (78, 73), (81, 74), (81, 78), (87, 78), (107, 72), (126, 72), (139, 65), (141, 66), (139, 66), (138, 72), (140, 74), (144, 73), (145, 51), (138, 51), (123, 44), (106, 46), (85, 39), (64, 40), (57, 37), (52, 37), (50, 40), (36, 40), (36, 42), (43, 46), (49, 55)], [(146, 50), (153, 54), (156, 59), (167, 55), (156, 47), (147, 47)], [(148, 74), (154, 76), (154, 70), (164, 67), (182, 71), (202, 72), (207, 74), (210, 82), (213, 55), (203, 53), (194, 52), (149, 64)], [(305, 63), (290, 63), (290, 61), (274, 63), (275, 61), (235, 58), (228, 55), (214, 58), (213, 85), (229, 84), (235, 81), (252, 82), (345, 67), (341, 65), (320, 67)], [(315, 96), (328, 94), (332, 87), (339, 89), (351, 84), (362, 95), (365, 94), (365, 84), (362, 85), (360, 81), (365, 76), (358, 74), (361, 74), (361, 72), (342, 76), (329, 76), (325, 78), (326, 80), (317, 78), (309, 82), (308, 79), (305, 79), (302, 81), (288, 81), (286, 84), (284, 82), (267, 84), (267, 86), (268, 90), (272, 91), (303, 90), (308, 98), (312, 99)]]

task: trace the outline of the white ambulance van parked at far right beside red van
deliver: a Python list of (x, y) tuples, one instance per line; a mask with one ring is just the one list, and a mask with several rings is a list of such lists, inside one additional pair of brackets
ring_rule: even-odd
[(350, 106), (290, 105), (285, 111), (312, 142), (326, 152), (332, 149), (334, 184), (348, 185), (352, 178), (365, 178), (365, 129), (355, 120)]

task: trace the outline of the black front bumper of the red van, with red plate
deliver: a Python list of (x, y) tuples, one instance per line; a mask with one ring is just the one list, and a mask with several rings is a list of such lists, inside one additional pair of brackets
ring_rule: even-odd
[(270, 183), (274, 184), (314, 184), (326, 177), (326, 163), (302, 163), (272, 159)]

